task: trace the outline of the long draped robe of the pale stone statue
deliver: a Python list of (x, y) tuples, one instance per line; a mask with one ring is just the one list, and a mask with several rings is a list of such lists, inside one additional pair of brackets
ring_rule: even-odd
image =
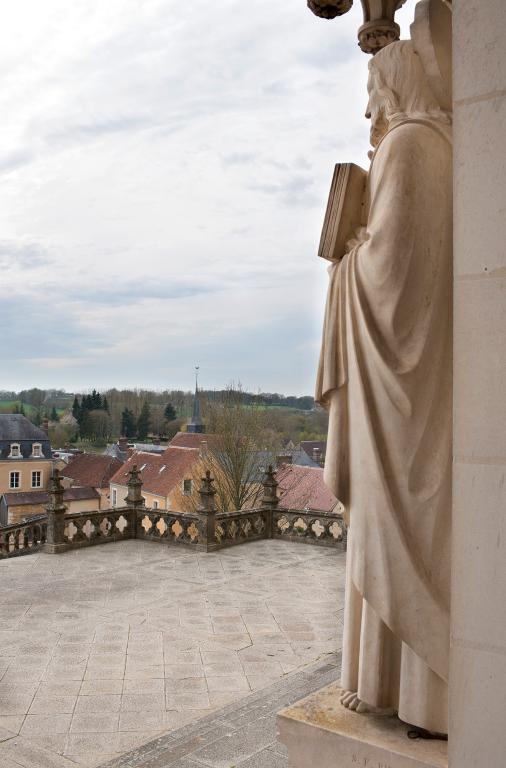
[(331, 265), (317, 400), (349, 515), (342, 686), (447, 732), (452, 409), (449, 128), (399, 120), (367, 226)]

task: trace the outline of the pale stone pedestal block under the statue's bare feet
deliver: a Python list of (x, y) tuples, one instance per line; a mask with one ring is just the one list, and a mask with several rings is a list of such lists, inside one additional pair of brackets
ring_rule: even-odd
[(395, 717), (357, 715), (332, 683), (278, 714), (290, 768), (448, 768), (445, 741), (411, 740)]

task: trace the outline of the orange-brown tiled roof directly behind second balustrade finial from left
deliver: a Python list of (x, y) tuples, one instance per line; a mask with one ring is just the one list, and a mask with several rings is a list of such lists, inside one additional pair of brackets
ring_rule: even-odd
[(128, 474), (137, 465), (142, 480), (142, 490), (155, 496), (168, 496), (173, 488), (188, 478), (191, 467), (199, 460), (199, 451), (191, 448), (169, 446), (161, 456), (136, 451), (121, 469), (111, 477), (111, 483), (127, 485)]

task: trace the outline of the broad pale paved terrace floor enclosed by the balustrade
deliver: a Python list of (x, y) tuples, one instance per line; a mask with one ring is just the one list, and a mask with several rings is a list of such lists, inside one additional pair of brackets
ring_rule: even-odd
[(98, 766), (285, 685), (340, 648), (344, 567), (272, 540), (0, 561), (0, 768)]

